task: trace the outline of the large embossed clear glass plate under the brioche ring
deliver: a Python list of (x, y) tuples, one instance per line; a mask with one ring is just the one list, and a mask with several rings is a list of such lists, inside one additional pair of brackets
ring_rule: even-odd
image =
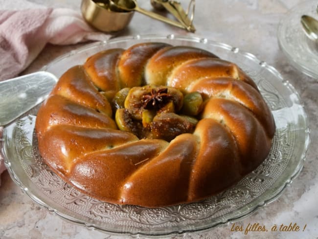
[(51, 62), (43, 70), (61, 76), (107, 48), (141, 42), (207, 49), (235, 62), (256, 82), (269, 104), (276, 133), (269, 156), (232, 188), (206, 200), (162, 208), (116, 205), (91, 198), (61, 180), (42, 161), (34, 133), (39, 106), (4, 128), (2, 154), (13, 180), (35, 202), (68, 221), (111, 234), (163, 237), (210, 230), (250, 215), (275, 200), (299, 173), (309, 144), (307, 116), (294, 87), (254, 55), (223, 43), (183, 36), (134, 36), (95, 43)]

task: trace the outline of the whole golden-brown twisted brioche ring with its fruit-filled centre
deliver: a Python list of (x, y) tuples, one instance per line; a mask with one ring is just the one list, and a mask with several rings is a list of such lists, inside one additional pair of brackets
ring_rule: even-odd
[(273, 116), (253, 80), (199, 48), (107, 49), (65, 72), (39, 109), (39, 151), (94, 198), (144, 207), (223, 191), (270, 152)]

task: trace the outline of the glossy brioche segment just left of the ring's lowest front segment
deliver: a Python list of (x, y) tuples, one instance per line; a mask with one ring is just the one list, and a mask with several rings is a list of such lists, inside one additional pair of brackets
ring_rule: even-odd
[(125, 179), (165, 146), (162, 140), (141, 140), (88, 154), (74, 162), (68, 181), (98, 199), (123, 203), (120, 193)]

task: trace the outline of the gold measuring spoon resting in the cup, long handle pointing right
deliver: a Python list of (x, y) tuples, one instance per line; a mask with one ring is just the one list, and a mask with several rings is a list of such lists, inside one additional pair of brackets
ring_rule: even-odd
[(153, 12), (149, 12), (149, 11), (143, 9), (143, 8), (140, 8), (137, 5), (136, 0), (109, 0), (109, 3), (110, 3), (110, 5), (109, 5), (110, 10), (114, 11), (114, 12), (136, 11), (136, 12), (144, 14), (144, 15), (146, 15), (148, 17), (151, 17), (151, 18), (154, 18), (156, 20), (162, 21), (164, 23), (171, 24), (171, 25), (186, 29), (186, 30), (191, 31), (191, 32), (195, 31), (195, 29), (193, 27), (188, 27), (184, 23), (182, 24), (182, 23), (173, 21), (173, 20), (171, 20), (169, 18), (166, 18), (166, 17), (163, 17), (163, 16), (161, 16), (159, 14), (156, 14), (156, 13), (153, 13)]

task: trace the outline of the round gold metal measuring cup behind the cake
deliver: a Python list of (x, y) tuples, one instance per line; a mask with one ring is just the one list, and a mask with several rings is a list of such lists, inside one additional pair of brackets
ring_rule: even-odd
[(124, 29), (134, 15), (134, 11), (112, 11), (108, 0), (82, 0), (81, 11), (88, 24), (104, 32)]

